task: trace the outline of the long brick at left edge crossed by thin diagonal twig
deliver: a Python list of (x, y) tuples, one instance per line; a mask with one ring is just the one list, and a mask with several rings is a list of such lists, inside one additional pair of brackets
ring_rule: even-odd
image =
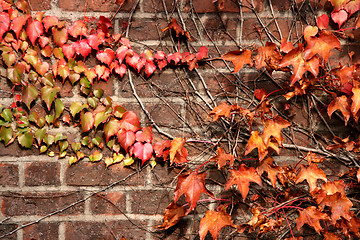
[[(72, 192), (4, 194), (1, 211), (5, 216), (46, 215), (83, 197), (82, 194)], [(80, 203), (59, 214), (73, 215), (83, 212), (84, 203)]]

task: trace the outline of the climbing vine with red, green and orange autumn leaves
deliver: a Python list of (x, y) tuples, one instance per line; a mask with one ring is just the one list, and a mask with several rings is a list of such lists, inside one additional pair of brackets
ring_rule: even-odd
[[(293, 229), (299, 231), (304, 224), (325, 239), (341, 239), (342, 235), (360, 237), (359, 196), (354, 193), (360, 180), (356, 157), (360, 151), (356, 126), (360, 114), (359, 65), (352, 64), (353, 53), (349, 54), (346, 65), (329, 64), (330, 55), (342, 50), (339, 36), (351, 37), (341, 27), (359, 10), (358, 1), (332, 0), (330, 18), (325, 14), (319, 16), (314, 25), (304, 29), (296, 44), (283, 38), (279, 43), (267, 42), (261, 47), (234, 50), (213, 59), (205, 46), (191, 51), (180, 51), (178, 47), (167, 54), (150, 49), (138, 53), (124, 34), (110, 33), (112, 23), (106, 17), (84, 17), (66, 23), (43, 13), (32, 16), (25, 0), (0, 3), (0, 51), (2, 67), (6, 69), (2, 81), (11, 84), (9, 94), (14, 98), (11, 106), (0, 106), (0, 140), (5, 146), (18, 142), (23, 148), (39, 149), (40, 154), (67, 158), (70, 165), (88, 158), (92, 162), (103, 161), (106, 167), (138, 162), (156, 167), (159, 161), (168, 161), (171, 167), (181, 168), (174, 200), (165, 210), (163, 224), (157, 227), (160, 230), (172, 228), (191, 214), (204, 193), (211, 197), (207, 201), (217, 203), (217, 208), (206, 211), (201, 219), (201, 240), (208, 232), (217, 239), (225, 227), (233, 229), (234, 236), (255, 231), (259, 237), (273, 234), (284, 239), (302, 239)], [(122, 1), (118, 3), (121, 5)], [(218, 8), (223, 4), (224, 1), (218, 1)], [(250, 8), (254, 10), (254, 6)], [(327, 30), (329, 21), (340, 30)], [(359, 25), (360, 21), (356, 20), (351, 30)], [(186, 46), (193, 40), (175, 18), (162, 31), (174, 33), (172, 39), (179, 46), (180, 42)], [(98, 61), (95, 66), (86, 63), (91, 56)], [(228, 98), (227, 102), (211, 107), (208, 124), (225, 129), (216, 140), (174, 137), (153, 142), (151, 126), (141, 127), (133, 111), (104, 96), (103, 89), (93, 87), (94, 82), (108, 81), (111, 75), (123, 78), (129, 74), (131, 78), (135, 72), (151, 78), (155, 71), (168, 67), (197, 71), (199, 64), (219, 60), (232, 62), (234, 75), (247, 66), (270, 77), (275, 71), (284, 72), (289, 78), (278, 83), (280, 88), (274, 92), (248, 89), (247, 94), (253, 97), (247, 105), (234, 104)], [(79, 86), (83, 102), (63, 103), (57, 82), (67, 81)], [(319, 94), (331, 100), (324, 103)], [(282, 109), (272, 103), (278, 97), (285, 102)], [(316, 148), (285, 143), (284, 132), (287, 135), (289, 129), (307, 131), (303, 126), (293, 126), (285, 114), (295, 105), (296, 98), (307, 99), (316, 111), (316, 105), (321, 103), (327, 110), (327, 116), (317, 112), (322, 121), (326, 123), (325, 117), (337, 115), (357, 134), (340, 138), (329, 127), (332, 139), (308, 133)], [(39, 107), (43, 115), (35, 111)], [(172, 137), (155, 122), (152, 124), (160, 134)], [(71, 141), (61, 133), (52, 134), (51, 129), (59, 126), (79, 127), (81, 141)], [(235, 140), (227, 138), (234, 134)], [(191, 169), (187, 151), (190, 143), (206, 144), (216, 149), (216, 153)], [(244, 149), (238, 147), (240, 143)], [(105, 154), (105, 148), (111, 153)], [(281, 155), (284, 148), (297, 149), (303, 157), (294, 166), (280, 167), (273, 156)], [(329, 159), (351, 167), (350, 171), (330, 181), (319, 167)], [(307, 163), (302, 163), (305, 160)], [(220, 198), (206, 188), (207, 171), (214, 165), (227, 178), (225, 184), (219, 184), (223, 191), (217, 195), (231, 190), (231, 196)], [(254, 189), (264, 189), (266, 194), (254, 193)], [(180, 203), (183, 195), (185, 203)], [(249, 206), (253, 218), (235, 224), (236, 215), (230, 209), (241, 202)]]

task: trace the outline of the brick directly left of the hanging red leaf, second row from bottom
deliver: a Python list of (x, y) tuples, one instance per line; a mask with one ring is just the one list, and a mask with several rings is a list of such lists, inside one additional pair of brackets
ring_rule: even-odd
[(173, 201), (169, 191), (132, 191), (131, 212), (135, 214), (164, 214), (164, 210)]

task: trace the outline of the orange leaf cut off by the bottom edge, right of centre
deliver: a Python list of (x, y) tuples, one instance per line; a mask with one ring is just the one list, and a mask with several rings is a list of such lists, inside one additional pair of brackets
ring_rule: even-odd
[(214, 240), (218, 239), (220, 231), (224, 227), (236, 227), (231, 216), (224, 210), (218, 212), (208, 210), (200, 221), (200, 240), (204, 240), (208, 232), (211, 233)]

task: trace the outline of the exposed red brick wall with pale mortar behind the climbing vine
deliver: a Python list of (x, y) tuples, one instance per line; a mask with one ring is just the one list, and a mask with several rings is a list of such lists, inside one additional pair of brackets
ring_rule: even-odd
[[(114, 0), (29, 2), (33, 11), (44, 11), (46, 15), (56, 15), (69, 21), (82, 18), (85, 8), (86, 16), (104, 15), (109, 18), (118, 8)], [(242, 2), (243, 5), (239, 6), (237, 1), (224, 0), (225, 6), (219, 11), (213, 0), (127, 0), (113, 20), (113, 31), (124, 30), (129, 12), (138, 4), (129, 31), (134, 48), (139, 51), (150, 48), (173, 52), (169, 33), (160, 29), (171, 17), (180, 22), (181, 15), (186, 30), (195, 39), (191, 47), (208, 46), (210, 58), (216, 58), (229, 50), (236, 50), (237, 45), (255, 47), (265, 43), (269, 36), (259, 20), (273, 34), (270, 35), (271, 40), (277, 42), (285, 37), (296, 41), (305, 26), (302, 20), (307, 18), (309, 23), (314, 23), (312, 15), (309, 15), (310, 8), (316, 13), (331, 10), (325, 0), (320, 3), (272, 0), (272, 8), (269, 1), (254, 0), (257, 13), (254, 14), (249, 8), (249, 1)], [(181, 45), (181, 48), (186, 49), (186, 46)], [(215, 102), (231, 100), (246, 103), (233, 97), (243, 94), (242, 90), (247, 87), (260, 86), (268, 92), (277, 88), (269, 76), (250, 68), (243, 69), (236, 77), (230, 71), (224, 62), (214, 60), (201, 65), (197, 72), (168, 68), (156, 72), (149, 79), (132, 74), (132, 80), (146, 110), (162, 130), (173, 136), (217, 138), (223, 131), (219, 126), (210, 124), (207, 118)], [(274, 76), (276, 80), (284, 77), (288, 76)], [(0, 88), (9, 90), (9, 86), (1, 81)], [(64, 102), (79, 100), (69, 83), (61, 87)], [(135, 111), (143, 126), (150, 124), (134, 98), (129, 76), (112, 78), (107, 83), (102, 82), (101, 87), (114, 101)], [(11, 102), (6, 94), (0, 92), (0, 97), (4, 103)], [(301, 109), (291, 114), (297, 122), (309, 124)], [(73, 134), (75, 139), (79, 139), (77, 130), (60, 128), (57, 131)], [(163, 137), (159, 135), (157, 138)], [(308, 144), (307, 136), (302, 134), (296, 135), (295, 141), (302, 146)], [(193, 157), (190, 168), (215, 152), (207, 149), (204, 153), (204, 146), (196, 144), (190, 149)], [(243, 149), (240, 148), (241, 151)], [(287, 162), (297, 161), (296, 153), (285, 153), (287, 157), (283, 159)], [(6, 148), (0, 145), (0, 236), (29, 222), (41, 220), (4, 239), (120, 239), (122, 236), (127, 240), (196, 239), (199, 220), (204, 212), (200, 208), (214, 208), (214, 205), (199, 206), (199, 215), (190, 214), (169, 231), (161, 232), (154, 228), (161, 224), (164, 209), (173, 198), (178, 173), (179, 170), (167, 163), (158, 164), (154, 169), (137, 164), (130, 168), (120, 165), (105, 168), (103, 163), (82, 160), (69, 167), (66, 160), (39, 155), (36, 149), (23, 150), (16, 144)], [(216, 171), (211, 177), (224, 181)], [(210, 186), (210, 189), (216, 191), (216, 187)], [(244, 235), (237, 237), (240, 239)]]

